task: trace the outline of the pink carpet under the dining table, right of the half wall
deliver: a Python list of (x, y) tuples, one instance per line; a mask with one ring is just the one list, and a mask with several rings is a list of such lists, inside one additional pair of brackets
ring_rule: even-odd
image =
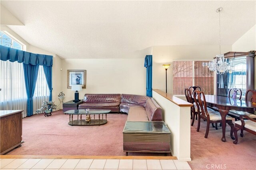
[[(230, 126), (226, 127), (226, 142), (221, 141), (222, 128), (212, 128), (208, 138), (204, 138), (206, 122), (201, 121), (200, 131), (196, 132), (197, 121), (191, 127), (191, 162), (193, 170), (226, 169), (226, 170), (256, 170), (256, 136), (244, 131), (238, 144), (233, 144), (230, 138)], [(211, 168), (213, 166), (213, 168)]]

